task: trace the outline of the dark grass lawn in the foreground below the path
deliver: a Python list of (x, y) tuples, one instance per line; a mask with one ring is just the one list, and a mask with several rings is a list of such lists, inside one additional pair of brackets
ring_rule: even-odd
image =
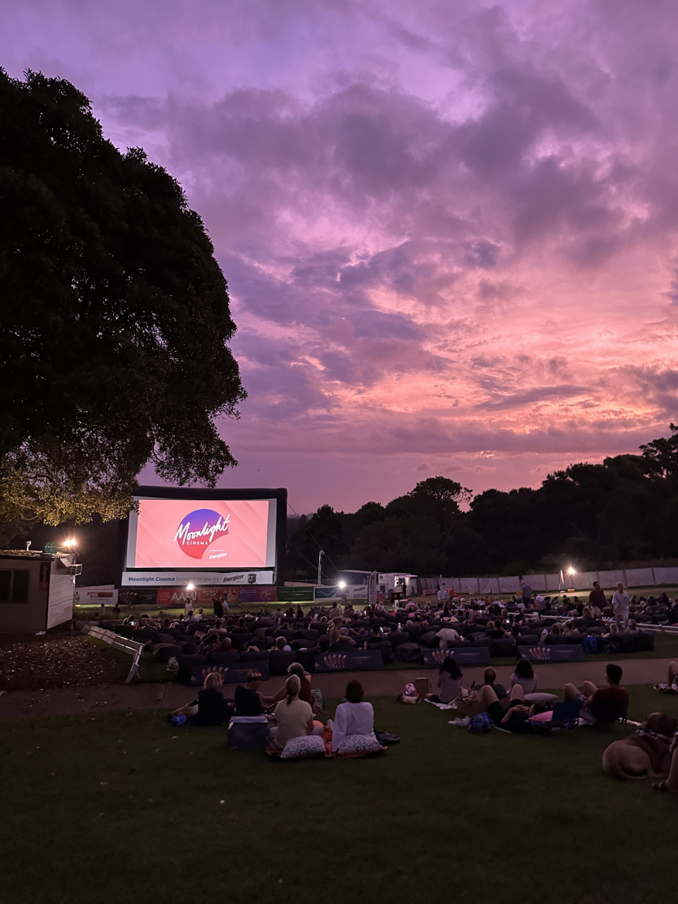
[[(678, 715), (631, 698), (631, 717)], [(269, 762), (160, 712), (4, 720), (0, 901), (673, 899), (678, 799), (601, 771), (629, 729), (473, 736), (374, 703), (400, 744), (338, 761)]]

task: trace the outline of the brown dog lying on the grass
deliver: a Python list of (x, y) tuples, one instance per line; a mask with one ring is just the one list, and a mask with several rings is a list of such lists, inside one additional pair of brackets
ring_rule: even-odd
[(624, 740), (616, 740), (603, 752), (603, 769), (622, 781), (665, 778), (671, 767), (673, 735), (678, 719), (653, 712), (640, 728)]

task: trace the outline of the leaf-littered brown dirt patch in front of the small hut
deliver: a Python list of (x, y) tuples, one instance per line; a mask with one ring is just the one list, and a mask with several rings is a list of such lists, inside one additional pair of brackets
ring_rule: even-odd
[(129, 664), (86, 637), (0, 635), (2, 691), (118, 684), (128, 672)]

